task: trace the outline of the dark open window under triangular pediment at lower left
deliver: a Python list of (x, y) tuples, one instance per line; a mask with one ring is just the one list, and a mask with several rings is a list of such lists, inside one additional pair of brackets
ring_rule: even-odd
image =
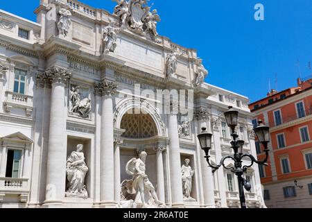
[(8, 157), (6, 160), (6, 177), (19, 178), (19, 169), (21, 165), (21, 151), (8, 150)]

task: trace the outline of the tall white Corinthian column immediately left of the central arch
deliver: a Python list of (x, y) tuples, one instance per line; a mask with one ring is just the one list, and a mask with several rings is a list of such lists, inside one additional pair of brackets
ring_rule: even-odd
[(114, 200), (114, 119), (112, 95), (117, 86), (104, 80), (102, 89), (101, 118), (101, 205), (115, 207)]

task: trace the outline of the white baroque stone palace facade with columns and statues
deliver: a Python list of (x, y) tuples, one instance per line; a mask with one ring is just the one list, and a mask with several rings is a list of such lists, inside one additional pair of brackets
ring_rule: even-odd
[[(215, 163), (232, 153), (232, 105), (256, 156), (248, 98), (204, 83), (196, 51), (158, 35), (156, 10), (41, 0), (35, 13), (0, 10), (0, 207), (239, 207), (236, 176), (211, 173), (196, 135), (213, 133)], [(248, 207), (265, 207), (258, 167), (245, 178)]]

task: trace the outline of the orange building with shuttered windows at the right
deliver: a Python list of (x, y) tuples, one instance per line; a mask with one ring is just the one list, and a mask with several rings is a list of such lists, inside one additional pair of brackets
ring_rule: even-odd
[[(267, 207), (312, 207), (312, 76), (249, 107), (254, 126), (259, 119), (270, 126), (269, 166), (259, 167)], [(263, 159), (259, 142), (256, 148)]]

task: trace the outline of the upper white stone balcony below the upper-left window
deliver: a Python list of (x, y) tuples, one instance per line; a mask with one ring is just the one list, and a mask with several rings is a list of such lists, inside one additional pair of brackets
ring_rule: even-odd
[(12, 108), (24, 109), (27, 117), (31, 117), (33, 112), (33, 96), (6, 92), (6, 101), (3, 102), (6, 112), (11, 112)]

